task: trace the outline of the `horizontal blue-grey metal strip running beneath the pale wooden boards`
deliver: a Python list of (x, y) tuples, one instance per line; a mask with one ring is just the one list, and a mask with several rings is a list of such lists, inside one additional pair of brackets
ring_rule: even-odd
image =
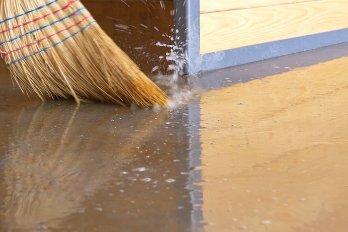
[[(308, 35), (209, 54), (191, 52), (187, 74), (196, 74), (231, 66), (280, 57), (334, 44), (348, 42), (348, 29)], [(193, 55), (195, 54), (195, 55)]]

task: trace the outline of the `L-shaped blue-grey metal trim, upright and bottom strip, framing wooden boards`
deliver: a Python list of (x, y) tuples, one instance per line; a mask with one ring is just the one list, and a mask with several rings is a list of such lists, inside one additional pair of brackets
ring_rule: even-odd
[[(176, 42), (187, 64), (184, 74), (196, 74), (348, 42), (348, 29), (199, 54), (199, 0), (174, 0)], [(233, 39), (233, 38), (231, 38)]]

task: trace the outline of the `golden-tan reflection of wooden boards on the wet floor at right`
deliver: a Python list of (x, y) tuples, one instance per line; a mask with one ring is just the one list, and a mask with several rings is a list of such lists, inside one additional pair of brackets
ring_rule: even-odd
[(347, 231), (347, 63), (202, 93), (204, 232)]

